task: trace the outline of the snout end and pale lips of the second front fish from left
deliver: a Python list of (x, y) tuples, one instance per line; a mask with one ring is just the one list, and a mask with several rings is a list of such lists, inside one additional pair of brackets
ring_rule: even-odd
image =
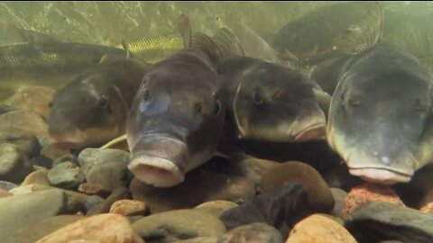
[(128, 169), (145, 184), (170, 187), (183, 182), (188, 166), (185, 142), (166, 135), (142, 137), (132, 149)]

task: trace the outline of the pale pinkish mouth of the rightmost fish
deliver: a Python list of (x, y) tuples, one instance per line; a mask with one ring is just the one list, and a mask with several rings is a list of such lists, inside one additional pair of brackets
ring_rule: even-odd
[(408, 183), (413, 175), (413, 173), (402, 173), (379, 167), (349, 167), (349, 173), (361, 177), (364, 181), (376, 184)]

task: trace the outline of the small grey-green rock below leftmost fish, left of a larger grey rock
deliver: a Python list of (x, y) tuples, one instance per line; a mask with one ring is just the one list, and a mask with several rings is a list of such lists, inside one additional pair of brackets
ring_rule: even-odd
[(47, 175), (51, 184), (71, 190), (77, 189), (78, 185), (85, 180), (81, 168), (71, 162), (64, 162), (52, 167)]

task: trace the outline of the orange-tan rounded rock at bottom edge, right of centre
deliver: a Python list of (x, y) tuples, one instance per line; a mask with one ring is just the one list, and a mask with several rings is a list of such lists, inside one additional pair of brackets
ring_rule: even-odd
[(356, 243), (355, 238), (336, 221), (313, 214), (299, 221), (290, 231), (286, 243)]

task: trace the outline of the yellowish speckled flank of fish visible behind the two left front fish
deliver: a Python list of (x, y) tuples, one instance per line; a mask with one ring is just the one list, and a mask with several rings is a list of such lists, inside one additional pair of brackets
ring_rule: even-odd
[[(118, 44), (115, 47), (122, 49), (123, 44)], [(129, 43), (129, 50), (134, 55), (150, 63), (161, 61), (182, 48), (182, 37), (179, 34), (145, 37)]]

